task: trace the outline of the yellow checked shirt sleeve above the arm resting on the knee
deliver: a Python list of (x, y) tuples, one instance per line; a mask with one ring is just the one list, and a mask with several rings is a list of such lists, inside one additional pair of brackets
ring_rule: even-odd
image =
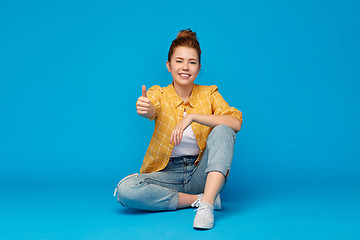
[(234, 107), (230, 107), (219, 93), (218, 87), (215, 85), (211, 86), (210, 99), (213, 115), (231, 115), (239, 119), (242, 123), (242, 112)]

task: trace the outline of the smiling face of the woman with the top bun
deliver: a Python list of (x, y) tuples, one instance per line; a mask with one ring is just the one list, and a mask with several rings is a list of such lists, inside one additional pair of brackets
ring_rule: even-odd
[(201, 67), (197, 51), (188, 47), (175, 48), (166, 66), (177, 86), (192, 86)]

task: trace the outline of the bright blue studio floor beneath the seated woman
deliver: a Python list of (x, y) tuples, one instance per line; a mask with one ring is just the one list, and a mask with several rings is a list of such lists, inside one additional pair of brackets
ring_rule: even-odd
[(124, 208), (114, 184), (2, 182), (0, 239), (360, 239), (359, 182), (232, 182), (210, 231), (193, 209)]

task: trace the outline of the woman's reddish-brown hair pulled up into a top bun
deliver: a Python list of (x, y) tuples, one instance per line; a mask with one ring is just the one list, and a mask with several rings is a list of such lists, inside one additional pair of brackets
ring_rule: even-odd
[(191, 31), (190, 28), (181, 30), (174, 41), (172, 41), (169, 54), (168, 54), (168, 61), (170, 62), (171, 56), (173, 55), (175, 48), (177, 47), (189, 47), (194, 48), (199, 57), (199, 64), (200, 64), (200, 57), (201, 57), (201, 49), (200, 49), (200, 43), (196, 37), (196, 32)]

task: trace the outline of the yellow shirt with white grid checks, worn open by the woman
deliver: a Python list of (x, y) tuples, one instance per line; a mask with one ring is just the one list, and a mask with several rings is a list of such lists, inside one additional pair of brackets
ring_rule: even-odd
[[(147, 96), (155, 106), (155, 114), (150, 119), (155, 119), (155, 129), (140, 173), (157, 172), (167, 166), (174, 147), (173, 143), (170, 144), (170, 136), (183, 118), (184, 111), (187, 114), (231, 115), (242, 122), (242, 113), (230, 107), (214, 85), (195, 84), (186, 103), (177, 95), (173, 84), (163, 88), (153, 86), (147, 91)], [(206, 140), (212, 128), (196, 122), (191, 123), (191, 127), (200, 148), (199, 157), (195, 162), (197, 164), (204, 153)]]

